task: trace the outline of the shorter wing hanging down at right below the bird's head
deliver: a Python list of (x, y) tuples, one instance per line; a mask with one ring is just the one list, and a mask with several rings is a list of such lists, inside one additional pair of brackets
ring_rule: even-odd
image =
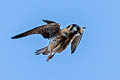
[(80, 43), (81, 38), (82, 38), (82, 34), (80, 34), (80, 33), (77, 33), (77, 34), (73, 37), (73, 39), (72, 39), (72, 41), (71, 41), (71, 53), (74, 53), (74, 52), (75, 52), (78, 44)]

